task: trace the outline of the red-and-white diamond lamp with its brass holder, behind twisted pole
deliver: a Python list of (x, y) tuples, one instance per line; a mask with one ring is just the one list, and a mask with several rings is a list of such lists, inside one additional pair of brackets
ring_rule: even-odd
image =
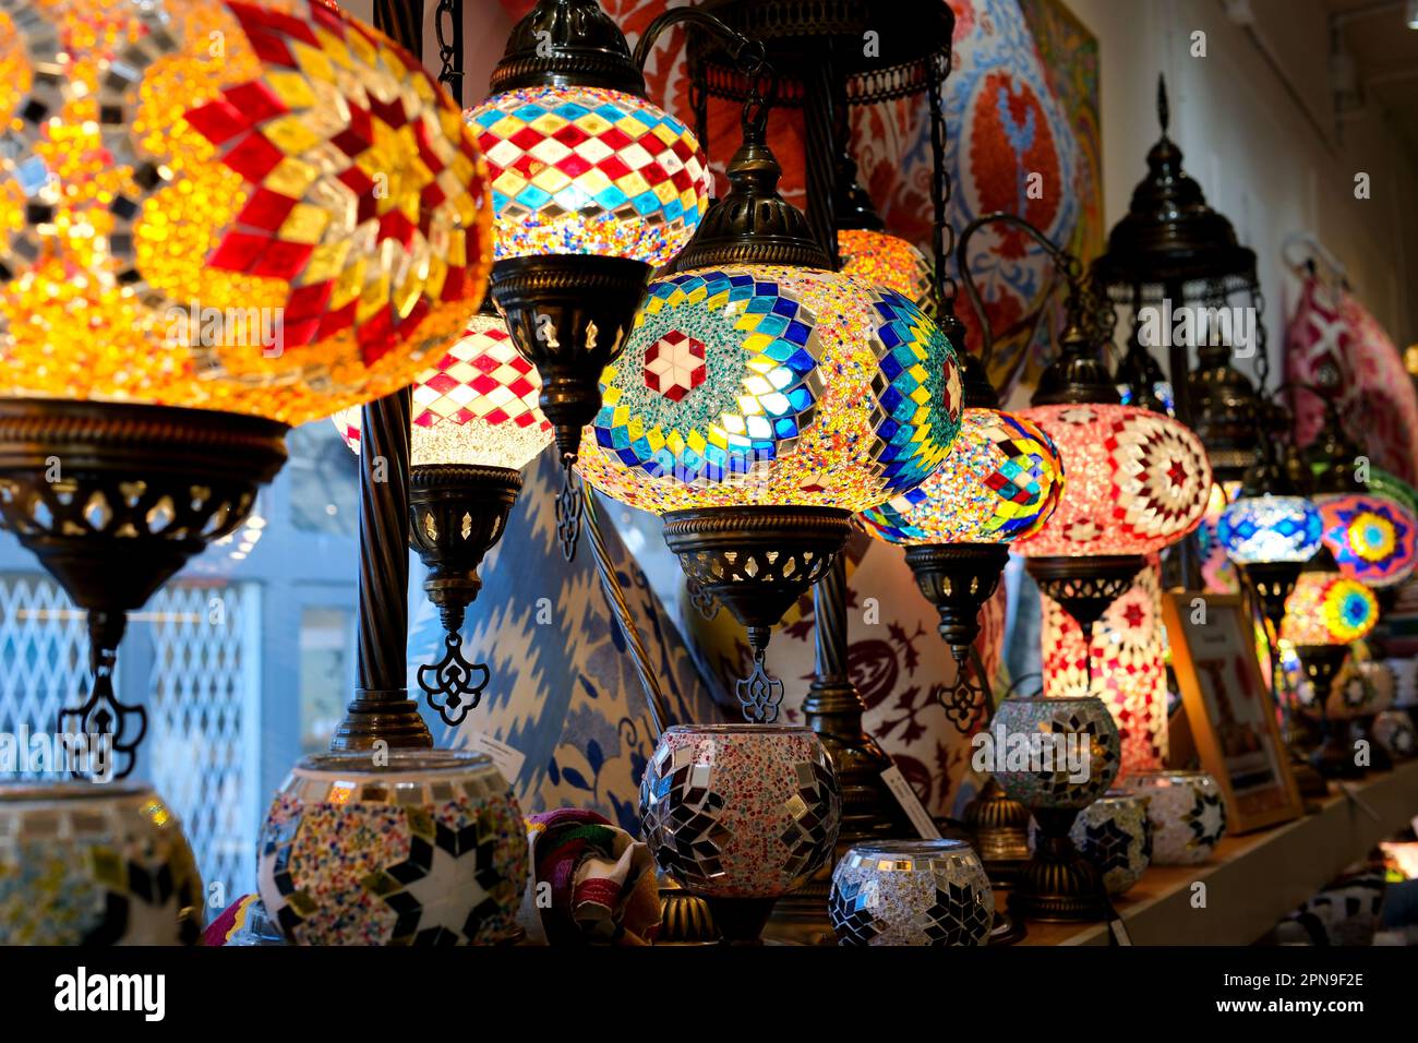
[[(502, 318), (484, 304), (459, 338), (414, 382), (408, 487), (410, 542), (438, 606), (444, 657), (418, 668), (418, 687), (452, 728), (476, 708), (488, 667), (462, 654), (464, 614), (478, 597), (478, 566), (502, 538), (522, 490), (522, 468), (552, 444), (552, 423), (537, 407), (542, 382), (513, 346)], [(360, 410), (332, 417), (359, 451)]]

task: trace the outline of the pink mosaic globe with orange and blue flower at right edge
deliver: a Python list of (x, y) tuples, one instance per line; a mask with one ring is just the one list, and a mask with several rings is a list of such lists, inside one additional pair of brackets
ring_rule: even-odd
[(1398, 501), (1361, 492), (1316, 497), (1324, 546), (1339, 570), (1366, 586), (1392, 586), (1418, 563), (1418, 518)]

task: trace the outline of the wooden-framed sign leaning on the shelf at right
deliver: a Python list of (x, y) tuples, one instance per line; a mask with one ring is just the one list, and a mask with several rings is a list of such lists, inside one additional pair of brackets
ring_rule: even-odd
[(1255, 626), (1239, 595), (1181, 590), (1163, 597), (1171, 664), (1191, 736), (1227, 798), (1234, 833), (1305, 812), (1275, 701), (1261, 680)]

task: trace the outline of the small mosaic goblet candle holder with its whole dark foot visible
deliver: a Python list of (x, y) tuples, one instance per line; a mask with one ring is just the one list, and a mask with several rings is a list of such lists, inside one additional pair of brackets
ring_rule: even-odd
[[(1015, 878), (1010, 911), (1032, 920), (1105, 918), (1102, 877), (1073, 847), (1069, 830), (1078, 813), (1117, 778), (1122, 751), (1113, 715), (1092, 695), (1015, 697), (1000, 704), (990, 735), (994, 778), (1039, 824), (1034, 856)], [(1071, 771), (1069, 754), (1079, 771)]]

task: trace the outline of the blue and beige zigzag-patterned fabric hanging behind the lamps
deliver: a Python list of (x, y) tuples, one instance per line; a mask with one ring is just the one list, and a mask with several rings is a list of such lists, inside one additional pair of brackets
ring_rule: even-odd
[[(492, 681), (455, 732), (440, 735), (442, 725), (431, 727), (441, 746), (475, 746), (479, 735), (491, 735), (522, 754), (513, 786), (523, 813), (590, 807), (638, 836), (640, 776), (657, 735), (588, 535), (581, 535), (574, 563), (562, 561), (554, 517), (560, 481), (550, 453), (527, 467), (506, 535), (479, 569), (482, 592), (464, 627), (465, 653), (488, 664)], [(665, 690), (668, 724), (718, 721), (679, 631), (608, 518), (604, 534)], [(417, 586), (408, 650), (408, 687), (418, 692), (414, 671), (442, 656), (442, 630)]]

